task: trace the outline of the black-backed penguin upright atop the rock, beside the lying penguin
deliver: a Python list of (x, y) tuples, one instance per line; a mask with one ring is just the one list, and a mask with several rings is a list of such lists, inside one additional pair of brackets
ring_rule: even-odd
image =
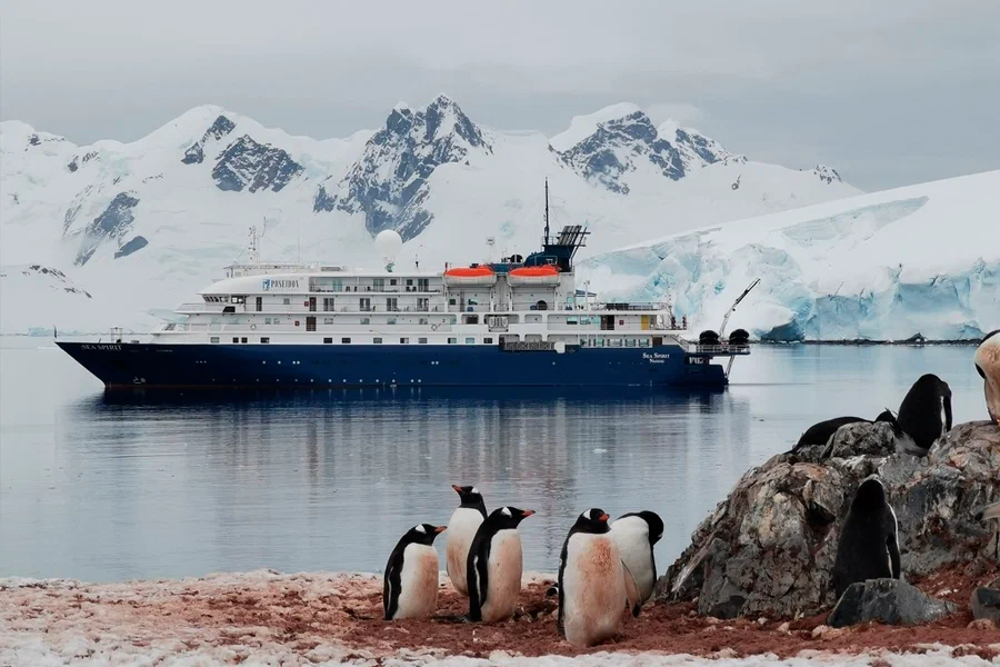
[(899, 406), (897, 450), (927, 456), (934, 440), (951, 430), (951, 388), (936, 375), (921, 376)]

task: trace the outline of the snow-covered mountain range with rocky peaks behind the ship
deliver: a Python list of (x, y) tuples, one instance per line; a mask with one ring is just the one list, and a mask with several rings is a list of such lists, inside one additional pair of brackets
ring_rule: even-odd
[[(40, 301), (0, 306), (0, 330), (31, 321), (13, 312), (22, 307), (43, 311), (39, 326), (78, 328), (100, 312), (148, 329), (240, 257), (250, 226), (266, 229), (269, 260), (371, 266), (382, 229), (407, 239), (401, 265), (480, 260), (487, 237), (530, 251), (544, 179), (553, 227), (589, 225), (589, 252), (858, 192), (826, 168), (753, 162), (694, 130), (654, 127), (631, 104), (577, 117), (551, 140), (480, 127), (444, 96), (329, 140), (212, 106), (131, 143), (78, 147), (4, 121), (0, 266), (61, 271), (93, 298), (50, 308), (40, 285)], [(0, 287), (9, 297), (10, 281)]]

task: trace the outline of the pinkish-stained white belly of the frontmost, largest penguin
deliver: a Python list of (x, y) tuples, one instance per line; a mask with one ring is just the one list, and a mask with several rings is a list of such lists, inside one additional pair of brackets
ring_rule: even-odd
[(618, 634), (626, 583), (621, 555), (609, 535), (570, 537), (562, 586), (562, 624), (571, 644), (594, 646)]

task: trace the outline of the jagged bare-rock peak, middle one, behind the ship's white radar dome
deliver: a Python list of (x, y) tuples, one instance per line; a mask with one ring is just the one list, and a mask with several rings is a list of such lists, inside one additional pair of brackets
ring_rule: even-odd
[(422, 205), (434, 169), (467, 162), (477, 151), (490, 153), (492, 147), (449, 97), (439, 96), (419, 110), (397, 104), (347, 176), (319, 187), (313, 210), (363, 212), (372, 235), (396, 229), (409, 240), (432, 219)]

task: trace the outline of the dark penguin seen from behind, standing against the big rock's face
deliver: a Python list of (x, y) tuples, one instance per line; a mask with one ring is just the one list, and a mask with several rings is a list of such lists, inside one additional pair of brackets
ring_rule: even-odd
[(899, 579), (899, 524), (878, 479), (858, 488), (837, 545), (833, 586), (837, 598), (851, 584), (868, 579)]

